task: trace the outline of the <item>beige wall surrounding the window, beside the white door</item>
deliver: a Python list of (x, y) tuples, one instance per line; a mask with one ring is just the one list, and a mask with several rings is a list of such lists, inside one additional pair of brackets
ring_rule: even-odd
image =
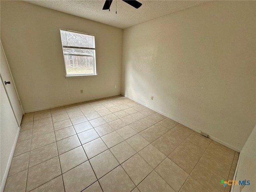
[[(95, 35), (98, 76), (65, 78), (60, 28)], [(26, 2), (1, 1), (1, 41), (24, 111), (120, 94), (122, 33)]]

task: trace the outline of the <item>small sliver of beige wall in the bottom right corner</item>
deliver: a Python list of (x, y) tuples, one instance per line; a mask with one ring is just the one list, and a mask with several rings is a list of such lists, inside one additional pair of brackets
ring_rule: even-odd
[[(256, 191), (256, 127), (252, 130), (241, 154), (236, 180), (250, 181), (250, 185), (244, 186), (242, 192)], [(234, 192), (240, 192), (240, 186), (234, 186)]]

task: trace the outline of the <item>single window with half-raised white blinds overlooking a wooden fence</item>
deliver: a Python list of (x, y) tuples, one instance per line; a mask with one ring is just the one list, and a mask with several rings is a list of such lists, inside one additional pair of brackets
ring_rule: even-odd
[(94, 35), (60, 29), (66, 76), (96, 75)]

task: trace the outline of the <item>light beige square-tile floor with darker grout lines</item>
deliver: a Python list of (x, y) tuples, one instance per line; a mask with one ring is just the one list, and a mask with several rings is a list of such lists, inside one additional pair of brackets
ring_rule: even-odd
[(23, 116), (5, 192), (228, 192), (238, 153), (128, 98)]

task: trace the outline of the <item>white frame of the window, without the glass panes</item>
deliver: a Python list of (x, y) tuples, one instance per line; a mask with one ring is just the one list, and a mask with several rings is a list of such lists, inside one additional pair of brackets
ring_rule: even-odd
[[(77, 31), (72, 31), (72, 30), (61, 29), (60, 28), (60, 33), (61, 33), (61, 31), (68, 31), (68, 32), (72, 32), (72, 33), (78, 33), (78, 34), (85, 34), (85, 35), (89, 35), (89, 36), (94, 36), (92, 34), (86, 34), (86, 33), (82, 33), (82, 32), (77, 32)], [(60, 38), (60, 41), (61, 41), (61, 38)], [(61, 42), (61, 44), (62, 44), (62, 42)], [(95, 36), (94, 36), (94, 47), (95, 47)], [(66, 68), (66, 63), (65, 63), (65, 55), (64, 55), (63, 48), (77, 48), (77, 49), (90, 49), (90, 50), (94, 50), (94, 54), (93, 54), (93, 58), (94, 58), (94, 73), (93, 74), (72, 74), (72, 75), (68, 75), (67, 68)], [(96, 76), (97, 75), (97, 70), (96, 70), (96, 47), (95, 48), (85, 48), (85, 47), (73, 47), (73, 46), (63, 46), (62, 45), (62, 54), (63, 54), (63, 58), (64, 58), (64, 66), (65, 66), (66, 77)], [(70, 54), (68, 54), (68, 58), (69, 58), (69, 56), (70, 56)]]

